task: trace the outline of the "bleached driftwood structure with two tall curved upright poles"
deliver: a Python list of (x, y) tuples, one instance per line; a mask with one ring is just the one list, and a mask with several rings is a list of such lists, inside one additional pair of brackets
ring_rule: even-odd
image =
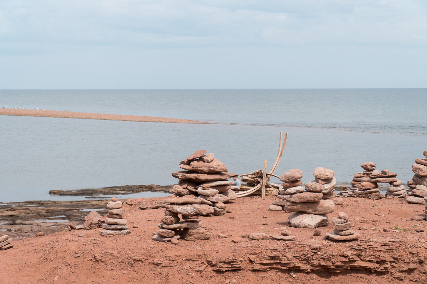
[(277, 153), (277, 157), (273, 164), (273, 167), (269, 172), (267, 172), (267, 160), (265, 160), (263, 171), (257, 170), (257, 171), (253, 171), (250, 174), (240, 175), (240, 177), (242, 177), (242, 182), (246, 182), (251, 186), (240, 186), (240, 189), (243, 189), (244, 191), (237, 192), (237, 195), (239, 197), (247, 196), (249, 194), (256, 194), (257, 191), (261, 191), (261, 197), (265, 197), (266, 188), (270, 188), (270, 190), (275, 190), (275, 191), (279, 191), (283, 189), (282, 185), (270, 183), (269, 181), (271, 176), (280, 178), (273, 173), (276, 170), (277, 166), (279, 165), (280, 159), (282, 158), (283, 151), (285, 150), (285, 146), (286, 146), (287, 137), (288, 137), (288, 133), (285, 134), (285, 138), (283, 140), (283, 145), (282, 145), (282, 132), (280, 132), (279, 151)]

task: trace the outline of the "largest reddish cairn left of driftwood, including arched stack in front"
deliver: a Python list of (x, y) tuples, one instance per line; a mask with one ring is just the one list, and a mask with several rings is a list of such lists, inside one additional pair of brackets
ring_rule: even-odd
[(185, 171), (172, 174), (178, 178), (178, 184), (172, 189), (175, 198), (167, 198), (161, 205), (165, 209), (164, 216), (162, 223), (158, 224), (159, 230), (153, 233), (153, 240), (174, 244), (179, 243), (180, 238), (186, 241), (209, 240), (211, 233), (199, 229), (202, 227), (200, 216), (224, 215), (227, 211), (225, 203), (237, 198), (231, 190), (233, 183), (228, 180), (237, 174), (229, 174), (213, 153), (205, 154), (205, 150), (196, 151), (179, 163)]

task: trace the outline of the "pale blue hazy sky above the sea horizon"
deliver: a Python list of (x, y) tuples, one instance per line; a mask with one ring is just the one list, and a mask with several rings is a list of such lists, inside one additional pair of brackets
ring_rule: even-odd
[(427, 87), (425, 0), (1, 0), (0, 89)]

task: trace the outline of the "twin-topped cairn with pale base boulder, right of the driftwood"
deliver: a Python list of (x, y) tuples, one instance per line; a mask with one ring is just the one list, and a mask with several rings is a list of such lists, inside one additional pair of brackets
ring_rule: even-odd
[[(316, 168), (316, 180), (307, 183), (304, 189), (302, 186), (298, 186), (301, 184), (298, 180), (303, 176), (302, 171), (298, 169), (287, 171), (282, 174), (280, 180), (294, 186), (287, 186), (286, 190), (279, 191), (277, 196), (279, 200), (273, 201), (273, 205), (270, 205), (270, 210), (274, 210), (274, 206), (282, 206), (282, 209), (286, 212), (292, 212), (288, 217), (292, 227), (315, 229), (326, 224), (328, 222), (326, 214), (332, 213), (335, 209), (333, 200), (325, 200), (332, 196), (330, 193), (333, 192), (335, 187), (333, 182), (336, 183), (336, 180), (333, 179), (333, 175), (333, 171), (325, 168)], [(317, 180), (321, 183), (317, 182)], [(330, 186), (332, 186), (332, 190)]]

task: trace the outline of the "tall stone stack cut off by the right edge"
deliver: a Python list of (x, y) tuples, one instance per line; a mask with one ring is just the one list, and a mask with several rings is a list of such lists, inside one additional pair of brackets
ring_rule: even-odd
[[(427, 156), (427, 151), (424, 151), (424, 156)], [(415, 164), (412, 165), (414, 177), (408, 181), (407, 194), (409, 195), (406, 201), (408, 203), (425, 204), (424, 197), (427, 197), (427, 158), (415, 159)]]

